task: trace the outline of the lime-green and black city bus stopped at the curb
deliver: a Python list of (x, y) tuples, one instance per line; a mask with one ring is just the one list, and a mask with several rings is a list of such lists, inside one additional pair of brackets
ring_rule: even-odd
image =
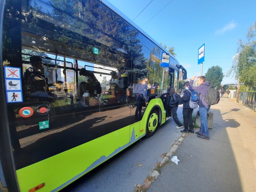
[(2, 0), (0, 14), (1, 191), (59, 191), (166, 121), (186, 71), (109, 2)]

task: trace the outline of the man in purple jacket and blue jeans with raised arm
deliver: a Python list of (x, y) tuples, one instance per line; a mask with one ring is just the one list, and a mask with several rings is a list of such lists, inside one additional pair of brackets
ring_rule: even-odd
[(192, 77), (190, 81), (190, 86), (188, 87), (189, 90), (191, 91), (196, 91), (200, 93), (199, 95), (199, 114), (200, 114), (200, 119), (201, 119), (201, 126), (200, 130), (196, 132), (197, 137), (201, 139), (207, 139), (209, 140), (209, 128), (208, 128), (208, 123), (207, 123), (207, 113), (210, 110), (211, 105), (208, 105), (208, 103), (205, 101), (205, 96), (208, 93), (208, 86), (210, 85), (209, 81), (205, 81), (205, 76), (199, 76), (197, 78), (197, 84), (199, 86), (193, 87), (193, 82), (194, 79), (197, 76)]

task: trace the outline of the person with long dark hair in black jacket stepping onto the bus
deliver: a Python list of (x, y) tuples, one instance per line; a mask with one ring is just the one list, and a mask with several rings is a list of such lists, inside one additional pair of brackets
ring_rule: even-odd
[(172, 118), (174, 120), (174, 122), (178, 125), (176, 126), (177, 128), (181, 128), (183, 127), (182, 123), (180, 122), (180, 120), (178, 119), (178, 115), (177, 115), (177, 109), (178, 109), (178, 94), (175, 92), (175, 88), (174, 87), (169, 87), (168, 89), (168, 93), (170, 96), (170, 108), (172, 108)]

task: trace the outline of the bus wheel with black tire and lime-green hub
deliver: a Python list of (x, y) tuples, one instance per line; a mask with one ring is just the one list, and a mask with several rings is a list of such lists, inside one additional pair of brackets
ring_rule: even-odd
[(146, 125), (146, 136), (151, 137), (155, 134), (158, 126), (159, 114), (157, 110), (153, 110), (148, 115), (147, 125)]

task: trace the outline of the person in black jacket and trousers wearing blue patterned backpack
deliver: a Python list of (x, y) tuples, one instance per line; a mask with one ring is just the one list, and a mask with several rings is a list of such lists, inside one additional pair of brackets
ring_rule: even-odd
[[(183, 97), (181, 97), (183, 101), (183, 121), (184, 121), (184, 130), (181, 131), (181, 133), (194, 133), (193, 130), (193, 120), (192, 120), (192, 113), (194, 109), (191, 109), (189, 106), (189, 100), (190, 100), (190, 91), (188, 90), (189, 82), (185, 82), (183, 84), (185, 87), (185, 90), (183, 92)], [(188, 129), (189, 127), (189, 129)]]

